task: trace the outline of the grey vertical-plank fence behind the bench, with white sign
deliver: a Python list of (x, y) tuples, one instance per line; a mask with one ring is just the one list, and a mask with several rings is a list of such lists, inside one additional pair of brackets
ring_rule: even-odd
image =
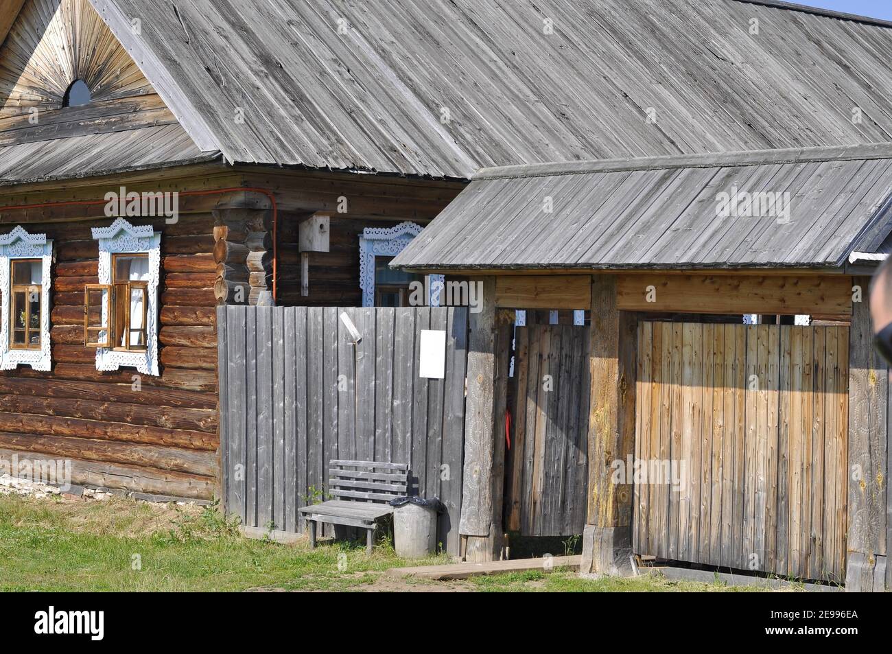
[[(439, 541), (458, 555), (467, 309), (221, 307), (218, 326), (227, 513), (302, 532), (329, 460), (408, 463), (415, 492), (445, 503)], [(447, 334), (443, 379), (419, 377), (424, 329)]]

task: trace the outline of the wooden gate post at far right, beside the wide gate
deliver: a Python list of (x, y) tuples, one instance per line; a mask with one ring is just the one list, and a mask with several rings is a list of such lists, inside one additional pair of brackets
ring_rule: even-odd
[(847, 592), (881, 592), (888, 584), (888, 402), (885, 362), (871, 343), (868, 277), (854, 277), (849, 330)]

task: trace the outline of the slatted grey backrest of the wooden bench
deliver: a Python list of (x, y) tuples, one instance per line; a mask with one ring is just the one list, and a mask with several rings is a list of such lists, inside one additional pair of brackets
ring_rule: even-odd
[(388, 502), (409, 494), (409, 465), (381, 461), (332, 460), (329, 493), (338, 500)]

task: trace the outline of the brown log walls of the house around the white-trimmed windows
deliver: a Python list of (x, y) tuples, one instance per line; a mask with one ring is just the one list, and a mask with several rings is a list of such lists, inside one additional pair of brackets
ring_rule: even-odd
[[(98, 242), (90, 230), (112, 219), (102, 204), (74, 203), (95, 202), (120, 186), (181, 194), (175, 224), (130, 219), (161, 232), (161, 376), (139, 376), (140, 390), (135, 369), (97, 372), (95, 350), (84, 346), (84, 286), (98, 282)], [(259, 191), (222, 192), (245, 186)], [(215, 307), (257, 304), (271, 291), (271, 200), (278, 207), (277, 303), (359, 306), (362, 230), (404, 220), (424, 226), (460, 187), (346, 173), (246, 175), (205, 164), (0, 191), (0, 233), (21, 224), (45, 233), (55, 252), (53, 371), (0, 371), (0, 459), (70, 459), (72, 484), (137, 496), (219, 496)], [(343, 197), (348, 211), (338, 214)], [(31, 208), (13, 208), (22, 205)], [(310, 296), (303, 297), (297, 230), (314, 211), (332, 213), (331, 252), (311, 254)], [(245, 282), (248, 292), (240, 301), (232, 292)]]

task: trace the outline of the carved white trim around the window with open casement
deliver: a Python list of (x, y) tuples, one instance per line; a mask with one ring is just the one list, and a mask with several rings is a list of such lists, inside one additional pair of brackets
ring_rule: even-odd
[[(134, 227), (119, 218), (107, 228), (93, 228), (93, 238), (99, 241), (99, 283), (111, 284), (112, 254), (148, 254), (149, 282), (146, 293), (145, 352), (119, 352), (110, 348), (96, 350), (97, 370), (136, 368), (144, 375), (159, 377), (158, 372), (158, 286), (161, 270), (161, 234), (151, 225)], [(103, 307), (103, 314), (106, 309)], [(104, 324), (111, 325), (111, 316), (103, 315)]]

